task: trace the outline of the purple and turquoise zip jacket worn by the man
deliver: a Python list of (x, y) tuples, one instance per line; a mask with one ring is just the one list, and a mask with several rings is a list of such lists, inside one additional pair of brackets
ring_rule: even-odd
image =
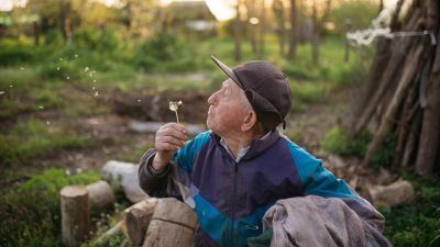
[[(196, 246), (246, 246), (262, 234), (262, 217), (277, 200), (315, 194), (352, 199), (351, 207), (374, 216), (374, 207), (321, 166), (321, 161), (273, 131), (254, 139), (235, 162), (211, 132), (178, 149), (170, 166), (154, 175), (154, 149), (145, 153), (140, 186), (153, 197), (178, 197), (195, 209), (199, 221)], [(369, 212), (370, 211), (370, 212)]]

